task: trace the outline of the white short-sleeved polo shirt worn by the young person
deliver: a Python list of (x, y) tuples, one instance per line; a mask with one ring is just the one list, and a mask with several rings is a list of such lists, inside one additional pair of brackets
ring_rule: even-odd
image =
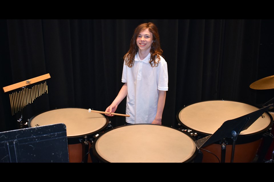
[(168, 90), (168, 67), (166, 60), (160, 56), (158, 66), (149, 64), (150, 53), (140, 60), (135, 55), (134, 66), (123, 67), (122, 82), (127, 83), (126, 122), (131, 124), (152, 123), (155, 119), (159, 90)]

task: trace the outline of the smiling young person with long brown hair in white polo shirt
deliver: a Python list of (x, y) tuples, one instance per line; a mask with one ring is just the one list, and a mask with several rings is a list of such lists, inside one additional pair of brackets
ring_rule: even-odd
[[(114, 113), (126, 98), (126, 122), (162, 124), (168, 90), (168, 68), (162, 57), (158, 28), (152, 22), (138, 25), (124, 55), (122, 86), (106, 112)], [(113, 116), (106, 114), (107, 116)]]

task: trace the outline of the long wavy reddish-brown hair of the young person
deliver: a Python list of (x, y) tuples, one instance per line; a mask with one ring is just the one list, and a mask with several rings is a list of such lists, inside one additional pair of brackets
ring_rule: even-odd
[[(158, 63), (160, 62), (160, 55), (162, 55), (163, 50), (161, 49), (161, 46), (160, 46), (160, 38), (159, 38), (159, 34), (158, 34), (158, 28), (152, 22), (142, 23), (135, 28), (133, 36), (130, 41), (129, 50), (124, 55), (124, 60), (126, 61), (126, 65), (128, 67), (133, 67), (134, 58), (138, 52), (138, 46), (136, 44), (137, 36), (139, 35), (139, 33), (141, 31), (143, 31), (147, 28), (153, 34), (152, 44), (151, 44), (151, 49), (150, 49), (149, 63), (152, 67), (154, 67), (154, 66), (158, 66)], [(158, 61), (156, 61), (157, 59), (158, 59)]]

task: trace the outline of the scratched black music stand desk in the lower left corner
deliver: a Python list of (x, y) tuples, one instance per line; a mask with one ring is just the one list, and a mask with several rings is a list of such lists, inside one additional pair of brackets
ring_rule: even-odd
[(69, 162), (66, 125), (1, 132), (0, 162)]

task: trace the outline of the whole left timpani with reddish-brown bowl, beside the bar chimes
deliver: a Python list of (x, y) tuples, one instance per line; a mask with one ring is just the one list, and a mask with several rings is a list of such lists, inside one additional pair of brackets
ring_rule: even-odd
[[(33, 116), (29, 127), (37, 127), (64, 123), (67, 127), (68, 153), (70, 162), (82, 162), (85, 156), (89, 156), (88, 140), (102, 131), (108, 125), (108, 117), (100, 113), (88, 113), (88, 109), (62, 108), (54, 109)], [(91, 162), (90, 157), (88, 161)]]

